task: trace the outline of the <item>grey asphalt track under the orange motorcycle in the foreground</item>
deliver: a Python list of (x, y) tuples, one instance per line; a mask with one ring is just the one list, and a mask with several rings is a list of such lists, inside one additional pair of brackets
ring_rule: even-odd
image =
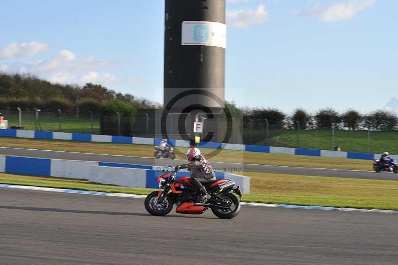
[(242, 206), (149, 215), (143, 199), (0, 188), (1, 265), (397, 264), (398, 215)]

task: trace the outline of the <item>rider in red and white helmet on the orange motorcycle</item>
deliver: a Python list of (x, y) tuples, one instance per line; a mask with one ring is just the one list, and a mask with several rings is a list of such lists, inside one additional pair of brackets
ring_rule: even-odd
[(211, 196), (202, 185), (215, 180), (215, 175), (210, 163), (200, 154), (200, 150), (196, 147), (188, 149), (187, 160), (189, 162), (188, 164), (179, 165), (175, 170), (179, 171), (180, 169), (188, 168), (188, 170), (192, 172), (190, 183), (198, 188), (201, 193), (199, 201), (210, 199)]

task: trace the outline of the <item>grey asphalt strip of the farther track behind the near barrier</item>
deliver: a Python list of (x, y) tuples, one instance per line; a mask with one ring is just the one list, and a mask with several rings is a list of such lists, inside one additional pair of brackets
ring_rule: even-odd
[[(154, 159), (154, 158), (142, 158), (142, 157), (132, 157), (132, 156), (113, 156), (113, 155), (103, 155), (103, 154), (86, 154), (86, 153), (32, 150), (32, 149), (19, 149), (19, 148), (7, 148), (7, 147), (0, 147), (0, 154), (13, 155), (13, 156), (53, 158), (53, 159), (129, 163), (129, 164), (152, 165), (152, 166), (163, 166), (165, 163), (169, 163), (172, 166), (175, 166), (186, 163), (185, 160), (178, 160), (178, 159), (176, 160)], [(226, 171), (228, 173), (234, 173), (238, 175), (242, 174), (243, 171), (248, 171), (248, 172), (265, 172), (265, 173), (317, 176), (317, 177), (348, 177), (348, 178), (363, 178), (363, 179), (398, 180), (398, 174), (394, 173), (375, 173), (368, 171), (314, 169), (314, 168), (236, 164), (236, 163), (221, 163), (221, 162), (211, 162), (211, 165), (215, 170)], [(322, 165), (319, 166), (321, 167)], [(369, 161), (369, 168), (371, 167), (372, 167), (372, 161)]]

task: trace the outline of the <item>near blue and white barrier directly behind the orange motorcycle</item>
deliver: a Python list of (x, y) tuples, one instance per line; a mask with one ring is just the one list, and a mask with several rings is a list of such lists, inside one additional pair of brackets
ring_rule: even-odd
[[(95, 161), (0, 156), (0, 173), (89, 179), (92, 182), (129, 187), (158, 188), (157, 166)], [(250, 178), (215, 171), (217, 179), (230, 178), (250, 193)], [(178, 172), (177, 179), (191, 172)]]

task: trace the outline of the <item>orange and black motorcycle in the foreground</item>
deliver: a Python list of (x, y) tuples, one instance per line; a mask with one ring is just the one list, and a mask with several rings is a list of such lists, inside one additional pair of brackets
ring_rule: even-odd
[[(170, 165), (166, 164), (165, 168)], [(152, 215), (164, 216), (171, 212), (176, 204), (176, 212), (183, 214), (202, 214), (208, 208), (221, 219), (231, 219), (238, 215), (242, 192), (235, 181), (219, 179), (204, 184), (211, 198), (205, 202), (199, 201), (199, 190), (189, 182), (190, 177), (176, 180), (177, 171), (163, 170), (157, 181), (162, 190), (153, 191), (145, 199), (145, 209)], [(237, 196), (235, 196), (235, 193)]]

